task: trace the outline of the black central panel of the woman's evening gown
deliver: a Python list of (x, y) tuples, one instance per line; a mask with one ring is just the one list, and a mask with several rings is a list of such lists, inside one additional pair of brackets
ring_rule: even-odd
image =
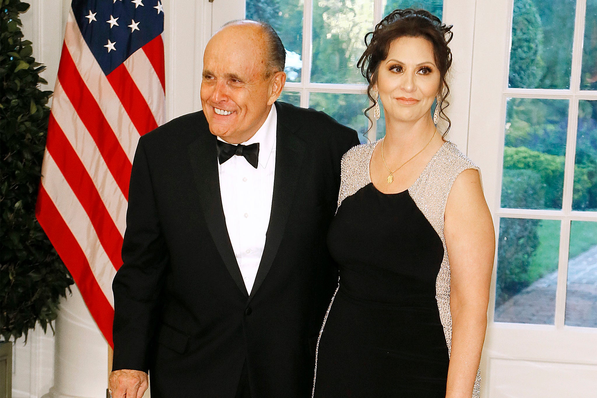
[(369, 183), (348, 196), (328, 246), (340, 283), (315, 397), (445, 397), (450, 359), (435, 297), (444, 246), (408, 190)]

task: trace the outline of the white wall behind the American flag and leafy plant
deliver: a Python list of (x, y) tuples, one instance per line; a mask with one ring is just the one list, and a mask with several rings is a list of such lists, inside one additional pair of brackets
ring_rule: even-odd
[[(42, 90), (53, 90), (70, 0), (28, 2), (31, 8), (21, 14), (24, 38), (33, 42), (36, 61), (47, 67), (42, 77), (48, 86)], [(212, 7), (209, 0), (164, 2), (167, 120), (201, 109), (202, 55), (211, 36)], [(19, 339), (14, 345), (13, 397), (105, 397), (107, 343), (76, 287), (61, 303), (56, 336), (37, 328), (23, 343)]]

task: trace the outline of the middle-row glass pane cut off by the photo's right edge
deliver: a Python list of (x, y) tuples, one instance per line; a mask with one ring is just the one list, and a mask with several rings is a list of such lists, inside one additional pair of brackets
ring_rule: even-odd
[(572, 208), (597, 211), (597, 101), (578, 101), (574, 162)]

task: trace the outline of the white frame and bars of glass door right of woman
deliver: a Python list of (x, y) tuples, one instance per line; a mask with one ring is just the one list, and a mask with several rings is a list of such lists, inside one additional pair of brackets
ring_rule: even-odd
[[(513, 0), (476, 2), (468, 154), (483, 173), (485, 198), (496, 225), (496, 239), (500, 217), (561, 221), (554, 325), (493, 322), (496, 252), (481, 364), (482, 396), (485, 397), (591, 396), (597, 390), (597, 328), (564, 325), (570, 221), (597, 221), (596, 212), (571, 210), (578, 100), (597, 100), (595, 91), (579, 88), (585, 10), (586, 0), (578, 0), (570, 89), (521, 89), (508, 88)], [(506, 98), (570, 101), (561, 210), (500, 207)], [(518, 380), (521, 372), (529, 377)], [(555, 374), (557, 378), (553, 377)], [(568, 392), (562, 395), (561, 387)]]

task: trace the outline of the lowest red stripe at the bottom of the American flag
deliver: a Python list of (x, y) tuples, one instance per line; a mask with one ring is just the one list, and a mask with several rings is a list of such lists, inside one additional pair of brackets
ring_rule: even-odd
[(64, 223), (60, 212), (48, 193), (45, 192), (42, 184), (39, 184), (35, 215), (61, 260), (69, 269), (101, 333), (110, 344), (110, 347), (114, 347), (112, 341), (114, 309), (110, 306), (109, 301), (97, 284), (87, 257), (85, 257), (75, 236), (72, 235), (69, 227)]

